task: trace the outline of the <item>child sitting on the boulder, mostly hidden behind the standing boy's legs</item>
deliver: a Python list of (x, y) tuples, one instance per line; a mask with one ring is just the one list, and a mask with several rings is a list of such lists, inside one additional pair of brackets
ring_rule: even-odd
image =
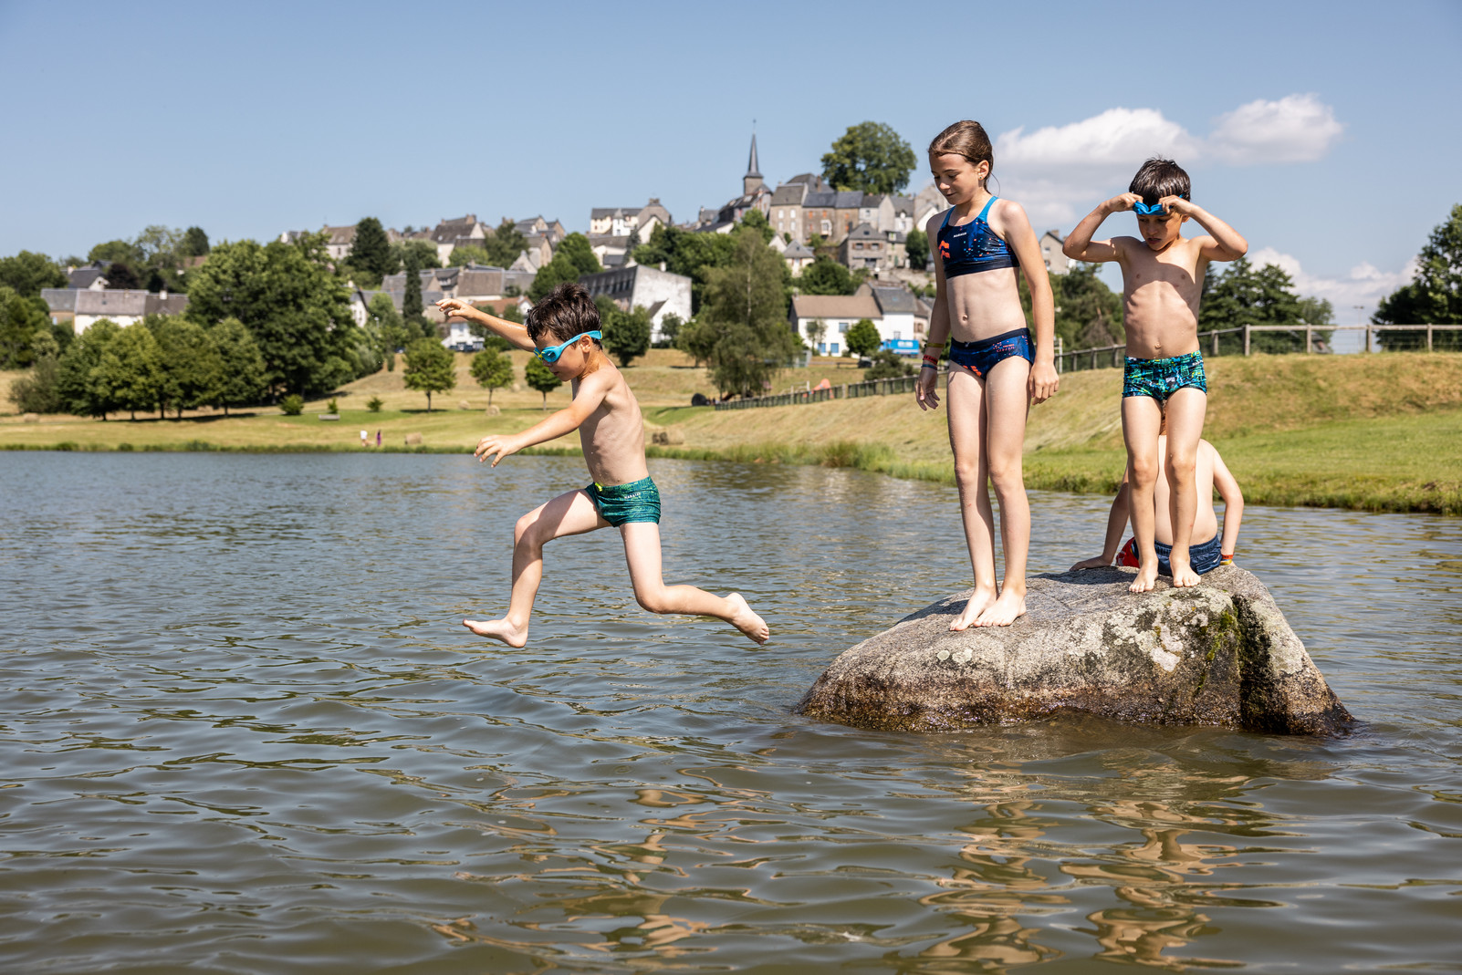
[[(1168, 452), (1168, 424), (1167, 411), (1164, 411), (1162, 427), (1158, 431), (1158, 481), (1152, 493), (1152, 509), (1155, 517), (1154, 529), (1154, 547), (1158, 551), (1158, 572), (1171, 576), (1173, 564), (1170, 561), (1170, 553), (1173, 551), (1173, 517), (1171, 517), (1171, 498), (1173, 487), (1168, 484), (1167, 474), (1164, 471), (1164, 459)], [(1218, 529), (1218, 513), (1213, 510), (1213, 488), (1218, 488), (1218, 496), (1224, 498), (1224, 531), (1219, 534)], [(1234, 563), (1234, 548), (1238, 544), (1238, 526), (1244, 519), (1244, 493), (1238, 488), (1238, 481), (1230, 474), (1228, 466), (1224, 463), (1224, 458), (1219, 456), (1218, 449), (1208, 440), (1197, 441), (1197, 452), (1194, 453), (1193, 463), (1193, 488), (1197, 494), (1197, 513), (1193, 519), (1192, 536), (1203, 541), (1192, 542), (1190, 564), (1193, 572), (1208, 574), (1209, 572), (1218, 569), (1219, 566), (1230, 566)], [(1102, 566), (1113, 564), (1117, 560), (1118, 566), (1140, 567), (1142, 561), (1137, 555), (1137, 539), (1136, 536), (1129, 538), (1126, 545), (1121, 545), (1121, 534), (1127, 528), (1127, 519), (1130, 516), (1130, 500), (1132, 491), (1127, 484), (1127, 474), (1121, 475), (1121, 485), (1117, 488), (1117, 497), (1111, 501), (1111, 513), (1107, 516), (1107, 542), (1102, 545), (1101, 555), (1096, 558), (1085, 558), (1075, 566), (1072, 570), (1077, 569), (1101, 569)], [(1137, 519), (1132, 517), (1133, 525)], [(1121, 548), (1118, 548), (1121, 545)]]

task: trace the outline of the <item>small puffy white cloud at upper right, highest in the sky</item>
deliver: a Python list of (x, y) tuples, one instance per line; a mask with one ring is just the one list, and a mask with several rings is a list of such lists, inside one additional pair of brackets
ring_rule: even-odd
[(1314, 95), (1251, 101), (1215, 120), (1209, 151), (1232, 165), (1314, 162), (1345, 132), (1335, 110)]

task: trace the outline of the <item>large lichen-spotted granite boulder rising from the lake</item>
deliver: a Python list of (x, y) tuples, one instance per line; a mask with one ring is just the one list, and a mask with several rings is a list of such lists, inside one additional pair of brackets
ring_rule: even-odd
[(1224, 566), (1192, 589), (1135, 570), (1035, 576), (1010, 627), (950, 633), (968, 592), (842, 653), (798, 705), (882, 731), (953, 731), (1079, 710), (1155, 724), (1336, 734), (1354, 724), (1273, 596)]

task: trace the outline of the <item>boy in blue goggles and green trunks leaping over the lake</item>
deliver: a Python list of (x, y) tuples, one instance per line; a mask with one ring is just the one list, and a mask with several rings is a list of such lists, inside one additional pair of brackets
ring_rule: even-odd
[(618, 528), (624, 539), (635, 598), (651, 612), (684, 612), (725, 620), (749, 639), (765, 643), (766, 623), (732, 592), (721, 598), (694, 586), (667, 586), (661, 577), (659, 491), (645, 466), (645, 420), (629, 384), (614, 368), (599, 339), (599, 311), (577, 284), (561, 284), (528, 313), (526, 327), (485, 314), (465, 301), (446, 298), (447, 317), (478, 322), (520, 349), (532, 351), (554, 376), (572, 383), (573, 402), (542, 422), (515, 434), (488, 434), (477, 459), (493, 466), (523, 447), (579, 430), (583, 459), (594, 482), (560, 494), (518, 519), (513, 529), (513, 595), (501, 620), (462, 620), (478, 636), (509, 646), (528, 642), (528, 618), (544, 574), (544, 544), (596, 528)]

